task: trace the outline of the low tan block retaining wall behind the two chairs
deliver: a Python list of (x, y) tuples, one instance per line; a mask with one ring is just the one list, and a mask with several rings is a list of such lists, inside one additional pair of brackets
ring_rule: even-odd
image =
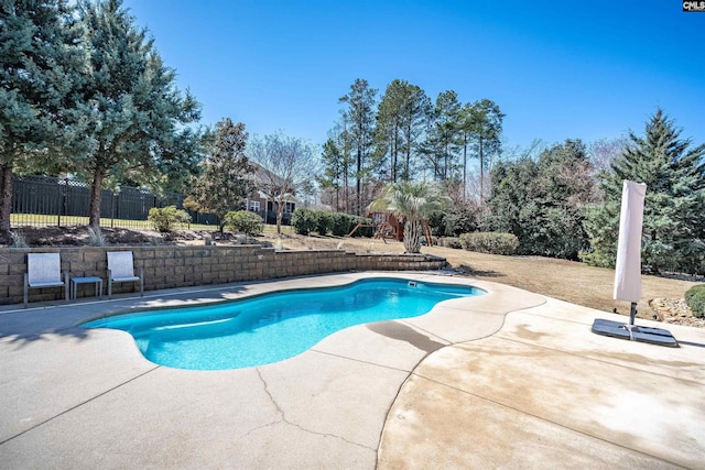
[[(144, 269), (144, 291), (345, 271), (440, 270), (446, 265), (444, 259), (425, 254), (275, 251), (260, 245), (9, 248), (0, 249), (0, 304), (22, 303), (28, 253), (61, 253), (62, 271), (72, 277), (101, 277), (107, 294), (108, 251), (132, 251), (135, 269)], [(112, 292), (139, 292), (139, 285), (113, 284)], [(94, 284), (78, 285), (78, 297), (94, 293)], [(58, 287), (30, 289), (30, 302), (63, 296)]]

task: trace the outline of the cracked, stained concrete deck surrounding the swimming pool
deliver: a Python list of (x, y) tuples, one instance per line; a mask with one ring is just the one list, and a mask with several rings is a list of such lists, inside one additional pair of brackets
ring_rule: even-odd
[[(160, 367), (126, 332), (75, 326), (372, 275), (488, 294), (232, 371)], [(0, 468), (703, 468), (705, 330), (669, 325), (681, 348), (664, 348), (594, 335), (597, 317), (625, 319), (409, 272), (2, 307)]]

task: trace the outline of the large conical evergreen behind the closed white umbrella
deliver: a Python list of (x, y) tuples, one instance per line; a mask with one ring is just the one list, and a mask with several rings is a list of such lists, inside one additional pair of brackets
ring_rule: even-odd
[(590, 264), (614, 267), (619, 238), (622, 181), (647, 184), (641, 258), (651, 272), (705, 274), (705, 144), (691, 146), (661, 109), (643, 138), (601, 174), (604, 204), (589, 212)]

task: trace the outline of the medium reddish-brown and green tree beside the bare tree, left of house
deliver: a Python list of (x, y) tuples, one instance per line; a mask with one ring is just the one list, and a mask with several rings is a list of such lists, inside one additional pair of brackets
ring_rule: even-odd
[(254, 190), (251, 178), (254, 167), (245, 154), (247, 139), (245, 124), (234, 124), (230, 118), (218, 121), (203, 172), (185, 203), (191, 209), (218, 216), (220, 231), (226, 214), (241, 209)]

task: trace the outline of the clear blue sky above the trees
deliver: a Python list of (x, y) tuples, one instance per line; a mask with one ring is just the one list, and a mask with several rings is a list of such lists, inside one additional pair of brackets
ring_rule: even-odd
[(323, 144), (356, 78), (489, 98), (507, 145), (592, 142), (661, 107), (705, 143), (705, 12), (679, 0), (124, 0), (178, 87), (248, 131)]

